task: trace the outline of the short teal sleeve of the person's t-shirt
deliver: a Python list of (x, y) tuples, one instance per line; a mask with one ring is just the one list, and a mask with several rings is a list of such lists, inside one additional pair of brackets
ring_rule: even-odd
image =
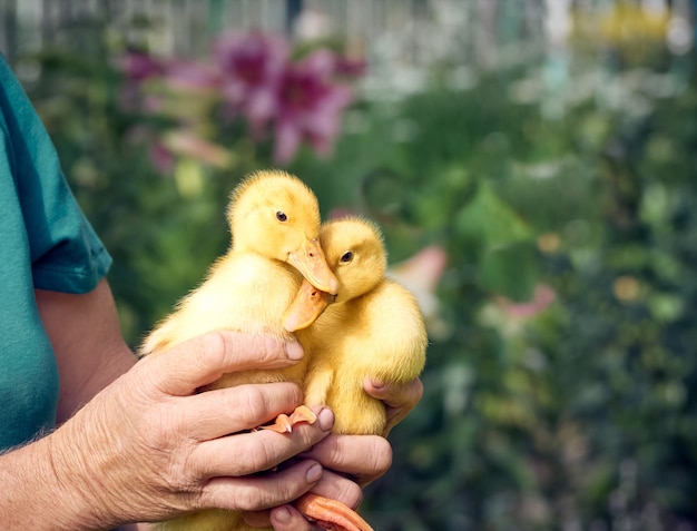
[[(111, 257), (70, 191), (53, 144), (4, 58), (0, 56), (0, 127), (31, 257), (33, 285), (90, 292)], [(0, 198), (9, 200), (8, 197)]]

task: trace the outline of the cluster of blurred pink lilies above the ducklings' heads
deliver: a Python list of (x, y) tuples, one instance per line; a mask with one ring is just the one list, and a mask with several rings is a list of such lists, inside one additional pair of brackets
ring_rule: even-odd
[[(292, 60), (286, 40), (253, 32), (220, 37), (210, 62), (129, 53), (121, 68), (128, 79), (122, 87), (125, 108), (160, 114), (183, 128), (194, 128), (207, 127), (210, 118), (216, 118), (215, 106), (223, 102), (228, 115), (217, 116), (220, 124), (227, 125), (232, 114), (248, 122), (255, 139), (273, 135), (274, 159), (283, 164), (293, 158), (302, 141), (312, 144), (320, 155), (330, 153), (340, 131), (341, 112), (353, 99), (352, 90), (341, 81), (361, 75), (364, 65), (330, 50)], [(151, 78), (154, 82), (141, 83)], [(163, 167), (169, 155), (176, 156), (176, 149), (169, 154), (167, 148), (171, 146), (154, 149)], [(217, 151), (204, 151), (197, 149), (196, 154), (204, 153), (206, 158), (213, 153), (217, 160)]]

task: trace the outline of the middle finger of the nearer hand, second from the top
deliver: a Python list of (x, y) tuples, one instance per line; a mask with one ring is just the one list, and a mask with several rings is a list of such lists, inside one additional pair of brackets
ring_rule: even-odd
[(179, 407), (189, 436), (203, 442), (258, 427), (302, 400), (297, 385), (276, 382), (206, 391), (184, 399)]

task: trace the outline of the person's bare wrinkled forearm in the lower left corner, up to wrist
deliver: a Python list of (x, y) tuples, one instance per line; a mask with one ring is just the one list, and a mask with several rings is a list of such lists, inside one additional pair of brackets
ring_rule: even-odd
[[(50, 434), (0, 455), (0, 529), (96, 531), (147, 519), (157, 489), (129, 478), (126, 463), (143, 456), (130, 459), (120, 439), (129, 426), (109, 411), (116, 395), (100, 395)], [(144, 503), (129, 500), (132, 489)]]

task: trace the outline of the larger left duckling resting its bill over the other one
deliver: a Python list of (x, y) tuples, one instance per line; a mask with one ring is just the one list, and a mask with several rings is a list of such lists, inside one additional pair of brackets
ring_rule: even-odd
[[(175, 312), (149, 334), (140, 348), (141, 355), (163, 352), (214, 330), (288, 341), (293, 334), (283, 326), (284, 315), (305, 323), (316, 317), (286, 314), (302, 278), (323, 292), (337, 292), (337, 281), (317, 239), (321, 224), (317, 199), (300, 179), (283, 171), (261, 171), (248, 177), (233, 193), (227, 218), (233, 236), (229, 250), (214, 263), (200, 286), (185, 296)], [(281, 381), (302, 384), (305, 370), (305, 363), (301, 362), (283, 370), (229, 373), (209, 389)], [(292, 424), (287, 417), (278, 423), (281, 432), (288, 431)], [(160, 529), (245, 528), (239, 513), (212, 510), (170, 520)]]

